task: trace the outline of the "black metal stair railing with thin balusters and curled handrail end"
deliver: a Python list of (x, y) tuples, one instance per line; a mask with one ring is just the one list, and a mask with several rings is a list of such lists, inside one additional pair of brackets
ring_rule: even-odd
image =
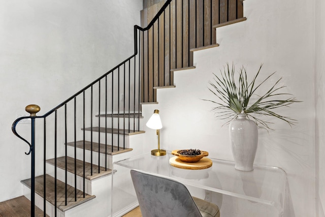
[[(219, 3), (220, 1), (220, 3)], [(235, 0), (240, 2), (239, 0)], [(218, 7), (214, 4), (218, 2)], [(74, 161), (74, 200), (77, 200), (77, 171), (76, 160), (78, 147), (82, 148), (80, 154), (83, 161), (83, 197), (85, 197), (85, 163), (86, 142), (90, 143), (91, 175), (93, 157), (97, 156), (96, 164), (103, 165), (108, 169), (107, 154), (117, 149), (125, 148), (125, 137), (132, 132), (140, 131), (141, 104), (154, 102), (154, 86), (173, 85), (172, 69), (187, 67), (192, 64), (191, 48), (206, 46), (215, 43), (212, 25), (222, 20), (220, 10), (226, 5), (228, 13), (230, 2), (233, 0), (167, 0), (161, 9), (152, 18), (147, 27), (134, 26), (134, 54), (105, 73), (100, 78), (78, 91), (75, 95), (62, 102), (42, 116), (20, 117), (12, 125), (13, 133), (29, 145), (31, 153), (31, 216), (35, 216), (35, 174), (44, 174), (44, 216), (46, 215), (46, 160), (54, 158), (55, 179), (55, 216), (57, 205), (57, 158), (64, 157), (65, 161), (65, 205), (67, 197), (67, 162), (69, 157), (68, 144), (73, 144), (73, 153), (70, 153)], [(222, 5), (223, 4), (223, 5)], [(207, 7), (210, 5), (210, 8)], [(238, 4), (237, 4), (238, 5)], [(209, 8), (207, 10), (207, 8)], [(215, 10), (218, 8), (218, 10)], [(223, 8), (223, 9), (222, 9)], [(236, 14), (238, 7), (236, 6)], [(209, 13), (207, 13), (207, 11)], [(208, 14), (209, 16), (205, 16)], [(216, 15), (217, 14), (217, 15)], [(229, 15), (227, 15), (229, 17)], [(218, 18), (216, 18), (218, 17)], [(238, 16), (236, 15), (236, 18)], [(211, 22), (208, 36), (204, 27), (205, 20)], [(227, 18), (228, 21), (229, 18)], [(217, 20), (213, 23), (212, 20)], [(203, 30), (202, 30), (203, 29)], [(123, 99), (121, 100), (121, 95)], [(94, 118), (95, 112), (98, 113)], [(113, 117), (116, 116), (117, 119)], [(101, 119), (105, 117), (105, 121)], [(110, 121), (107, 117), (112, 117)], [(31, 118), (30, 143), (22, 138), (16, 130), (17, 124), (22, 119)], [(40, 121), (37, 121), (40, 120)], [(43, 120), (43, 121), (41, 121)], [(37, 131), (36, 131), (37, 129)], [(43, 133), (41, 133), (43, 130)], [(88, 132), (89, 131), (89, 132)], [(103, 134), (104, 133), (104, 134)], [(117, 136), (114, 136), (114, 134)], [(120, 138), (120, 136), (121, 138)], [(36, 158), (35, 138), (43, 137), (43, 154)], [(104, 137), (104, 138), (103, 138)], [(81, 140), (81, 141), (78, 141)], [(96, 141), (96, 142), (95, 142)], [(62, 150), (60, 144), (65, 146)], [(87, 142), (88, 143), (88, 142)], [(104, 157), (101, 156), (101, 143), (105, 145)], [(108, 145), (111, 143), (111, 150)], [(78, 146), (79, 144), (79, 146)], [(98, 153), (93, 151), (94, 145), (98, 144)], [(96, 155), (95, 155), (96, 154)], [(43, 162), (43, 171), (35, 171), (35, 164)]]

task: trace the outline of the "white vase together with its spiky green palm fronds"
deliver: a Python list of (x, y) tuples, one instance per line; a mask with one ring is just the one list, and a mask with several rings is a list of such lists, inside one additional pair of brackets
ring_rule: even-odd
[[(220, 70), (219, 75), (213, 73), (214, 80), (209, 81), (209, 90), (216, 100), (206, 101), (216, 104), (213, 111), (216, 112), (217, 118), (229, 119), (226, 123), (230, 122), (229, 131), (235, 168), (242, 171), (253, 170), (258, 139), (257, 126), (266, 130), (271, 129), (269, 126), (271, 122), (263, 120), (263, 116), (279, 118), (290, 126), (296, 121), (274, 111), (299, 102), (292, 95), (280, 92), (285, 87), (279, 85), (282, 78), (278, 79), (264, 94), (257, 94), (257, 89), (275, 74), (275, 72), (270, 74), (261, 83), (256, 84), (262, 66), (263, 64), (250, 82), (247, 80), (246, 68), (242, 66), (239, 73), (236, 73), (234, 64), (232, 68), (226, 64), (223, 71)], [(254, 102), (252, 96), (257, 96)]]

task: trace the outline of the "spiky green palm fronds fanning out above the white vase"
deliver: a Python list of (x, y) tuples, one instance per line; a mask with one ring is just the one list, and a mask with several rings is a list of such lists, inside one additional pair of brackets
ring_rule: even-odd
[[(206, 100), (215, 103), (217, 106), (213, 108), (216, 112), (216, 117), (219, 119), (235, 119), (239, 114), (246, 114), (248, 118), (253, 118), (260, 128), (266, 130), (273, 130), (269, 127), (272, 122), (264, 121), (259, 117), (253, 116), (252, 114), (259, 114), (259, 116), (272, 116), (284, 120), (290, 126), (296, 123), (295, 119), (285, 117), (275, 113), (273, 110), (283, 106), (289, 106), (290, 104), (300, 102), (295, 97), (289, 97), (284, 100), (276, 99), (285, 98), (285, 96), (292, 96), (290, 94), (281, 93), (279, 90), (285, 86), (279, 86), (279, 82), (282, 78), (278, 79), (273, 86), (265, 92), (264, 95), (259, 96), (256, 94), (256, 89), (264, 84), (274, 74), (269, 75), (264, 81), (259, 84), (255, 84), (256, 78), (261, 72), (263, 64), (259, 67), (257, 73), (253, 77), (252, 81), (248, 83), (246, 68), (243, 66), (240, 68), (239, 75), (235, 73), (234, 64), (230, 69), (229, 64), (223, 67), (223, 72), (220, 70), (220, 75), (214, 75), (214, 80), (209, 81), (209, 90), (219, 99), (218, 101)], [(239, 76), (239, 77), (238, 77)], [(250, 102), (251, 97), (257, 96), (255, 102)], [(258, 115), (257, 115), (258, 116)], [(226, 123), (228, 123), (226, 122)]]

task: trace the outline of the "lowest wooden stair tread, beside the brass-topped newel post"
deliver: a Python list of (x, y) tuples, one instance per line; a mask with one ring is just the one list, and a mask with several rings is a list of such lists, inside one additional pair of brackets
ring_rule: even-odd
[[(46, 200), (54, 205), (55, 200), (55, 182), (54, 177), (46, 174)], [(31, 179), (22, 180), (21, 183), (26, 185), (29, 189), (31, 188)], [(60, 180), (56, 180), (56, 190), (57, 190), (57, 198), (56, 198), (56, 206), (62, 212), (67, 211), (73, 207), (76, 207), (82, 203), (85, 203), (91, 199), (94, 199), (94, 195), (85, 194), (85, 198), (83, 197), (83, 192), (77, 190), (77, 201), (75, 201), (75, 188), (71, 185), (67, 186), (67, 206), (64, 204), (65, 201), (65, 187), (64, 182)], [(35, 177), (35, 193), (44, 198), (44, 175)]]

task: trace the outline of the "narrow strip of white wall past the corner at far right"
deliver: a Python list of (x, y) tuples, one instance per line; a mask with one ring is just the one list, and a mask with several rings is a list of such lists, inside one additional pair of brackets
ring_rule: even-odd
[(325, 2), (316, 1), (315, 16), (315, 100), (316, 100), (316, 212), (325, 210)]

